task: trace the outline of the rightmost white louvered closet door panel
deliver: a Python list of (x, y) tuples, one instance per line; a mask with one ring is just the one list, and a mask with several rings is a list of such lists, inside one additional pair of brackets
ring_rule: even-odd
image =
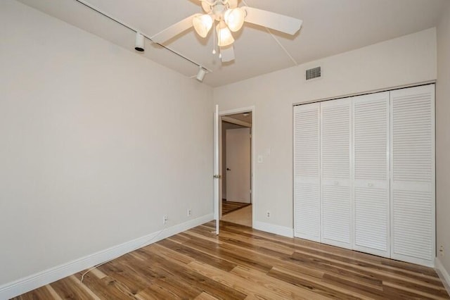
[(392, 258), (435, 257), (435, 85), (399, 89), (391, 101)]

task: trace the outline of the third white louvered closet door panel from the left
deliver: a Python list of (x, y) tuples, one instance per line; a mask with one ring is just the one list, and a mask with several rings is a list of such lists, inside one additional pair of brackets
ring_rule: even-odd
[(389, 92), (354, 97), (354, 249), (390, 257)]

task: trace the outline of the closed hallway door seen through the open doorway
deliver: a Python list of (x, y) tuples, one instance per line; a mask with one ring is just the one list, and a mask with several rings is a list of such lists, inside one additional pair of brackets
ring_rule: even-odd
[(250, 128), (226, 130), (226, 200), (250, 203)]

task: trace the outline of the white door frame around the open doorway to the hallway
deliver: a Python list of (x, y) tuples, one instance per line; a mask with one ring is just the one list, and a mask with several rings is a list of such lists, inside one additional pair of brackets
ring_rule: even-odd
[[(251, 135), (252, 135), (252, 142), (251, 142), (251, 158), (250, 161), (252, 163), (250, 168), (250, 180), (252, 181), (251, 189), (252, 194), (250, 195), (251, 203), (252, 203), (252, 227), (255, 225), (255, 215), (256, 215), (256, 204), (257, 204), (257, 195), (256, 195), (256, 176), (255, 176), (255, 106), (248, 106), (243, 108), (235, 108), (230, 109), (227, 111), (219, 111), (219, 174), (223, 174), (223, 165), (222, 165), (222, 157), (223, 157), (223, 151), (222, 151), (222, 117), (226, 115), (234, 115), (236, 113), (252, 113), (252, 127), (251, 127)], [(222, 181), (219, 181), (219, 219), (222, 217)]]

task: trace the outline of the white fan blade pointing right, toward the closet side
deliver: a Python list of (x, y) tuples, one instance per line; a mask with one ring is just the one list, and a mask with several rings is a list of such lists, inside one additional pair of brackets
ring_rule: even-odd
[(243, 6), (242, 8), (247, 13), (245, 22), (248, 23), (285, 32), (289, 35), (295, 35), (295, 32), (299, 31), (300, 27), (302, 27), (302, 20), (289, 17), (288, 15), (262, 11), (261, 9), (248, 6)]

